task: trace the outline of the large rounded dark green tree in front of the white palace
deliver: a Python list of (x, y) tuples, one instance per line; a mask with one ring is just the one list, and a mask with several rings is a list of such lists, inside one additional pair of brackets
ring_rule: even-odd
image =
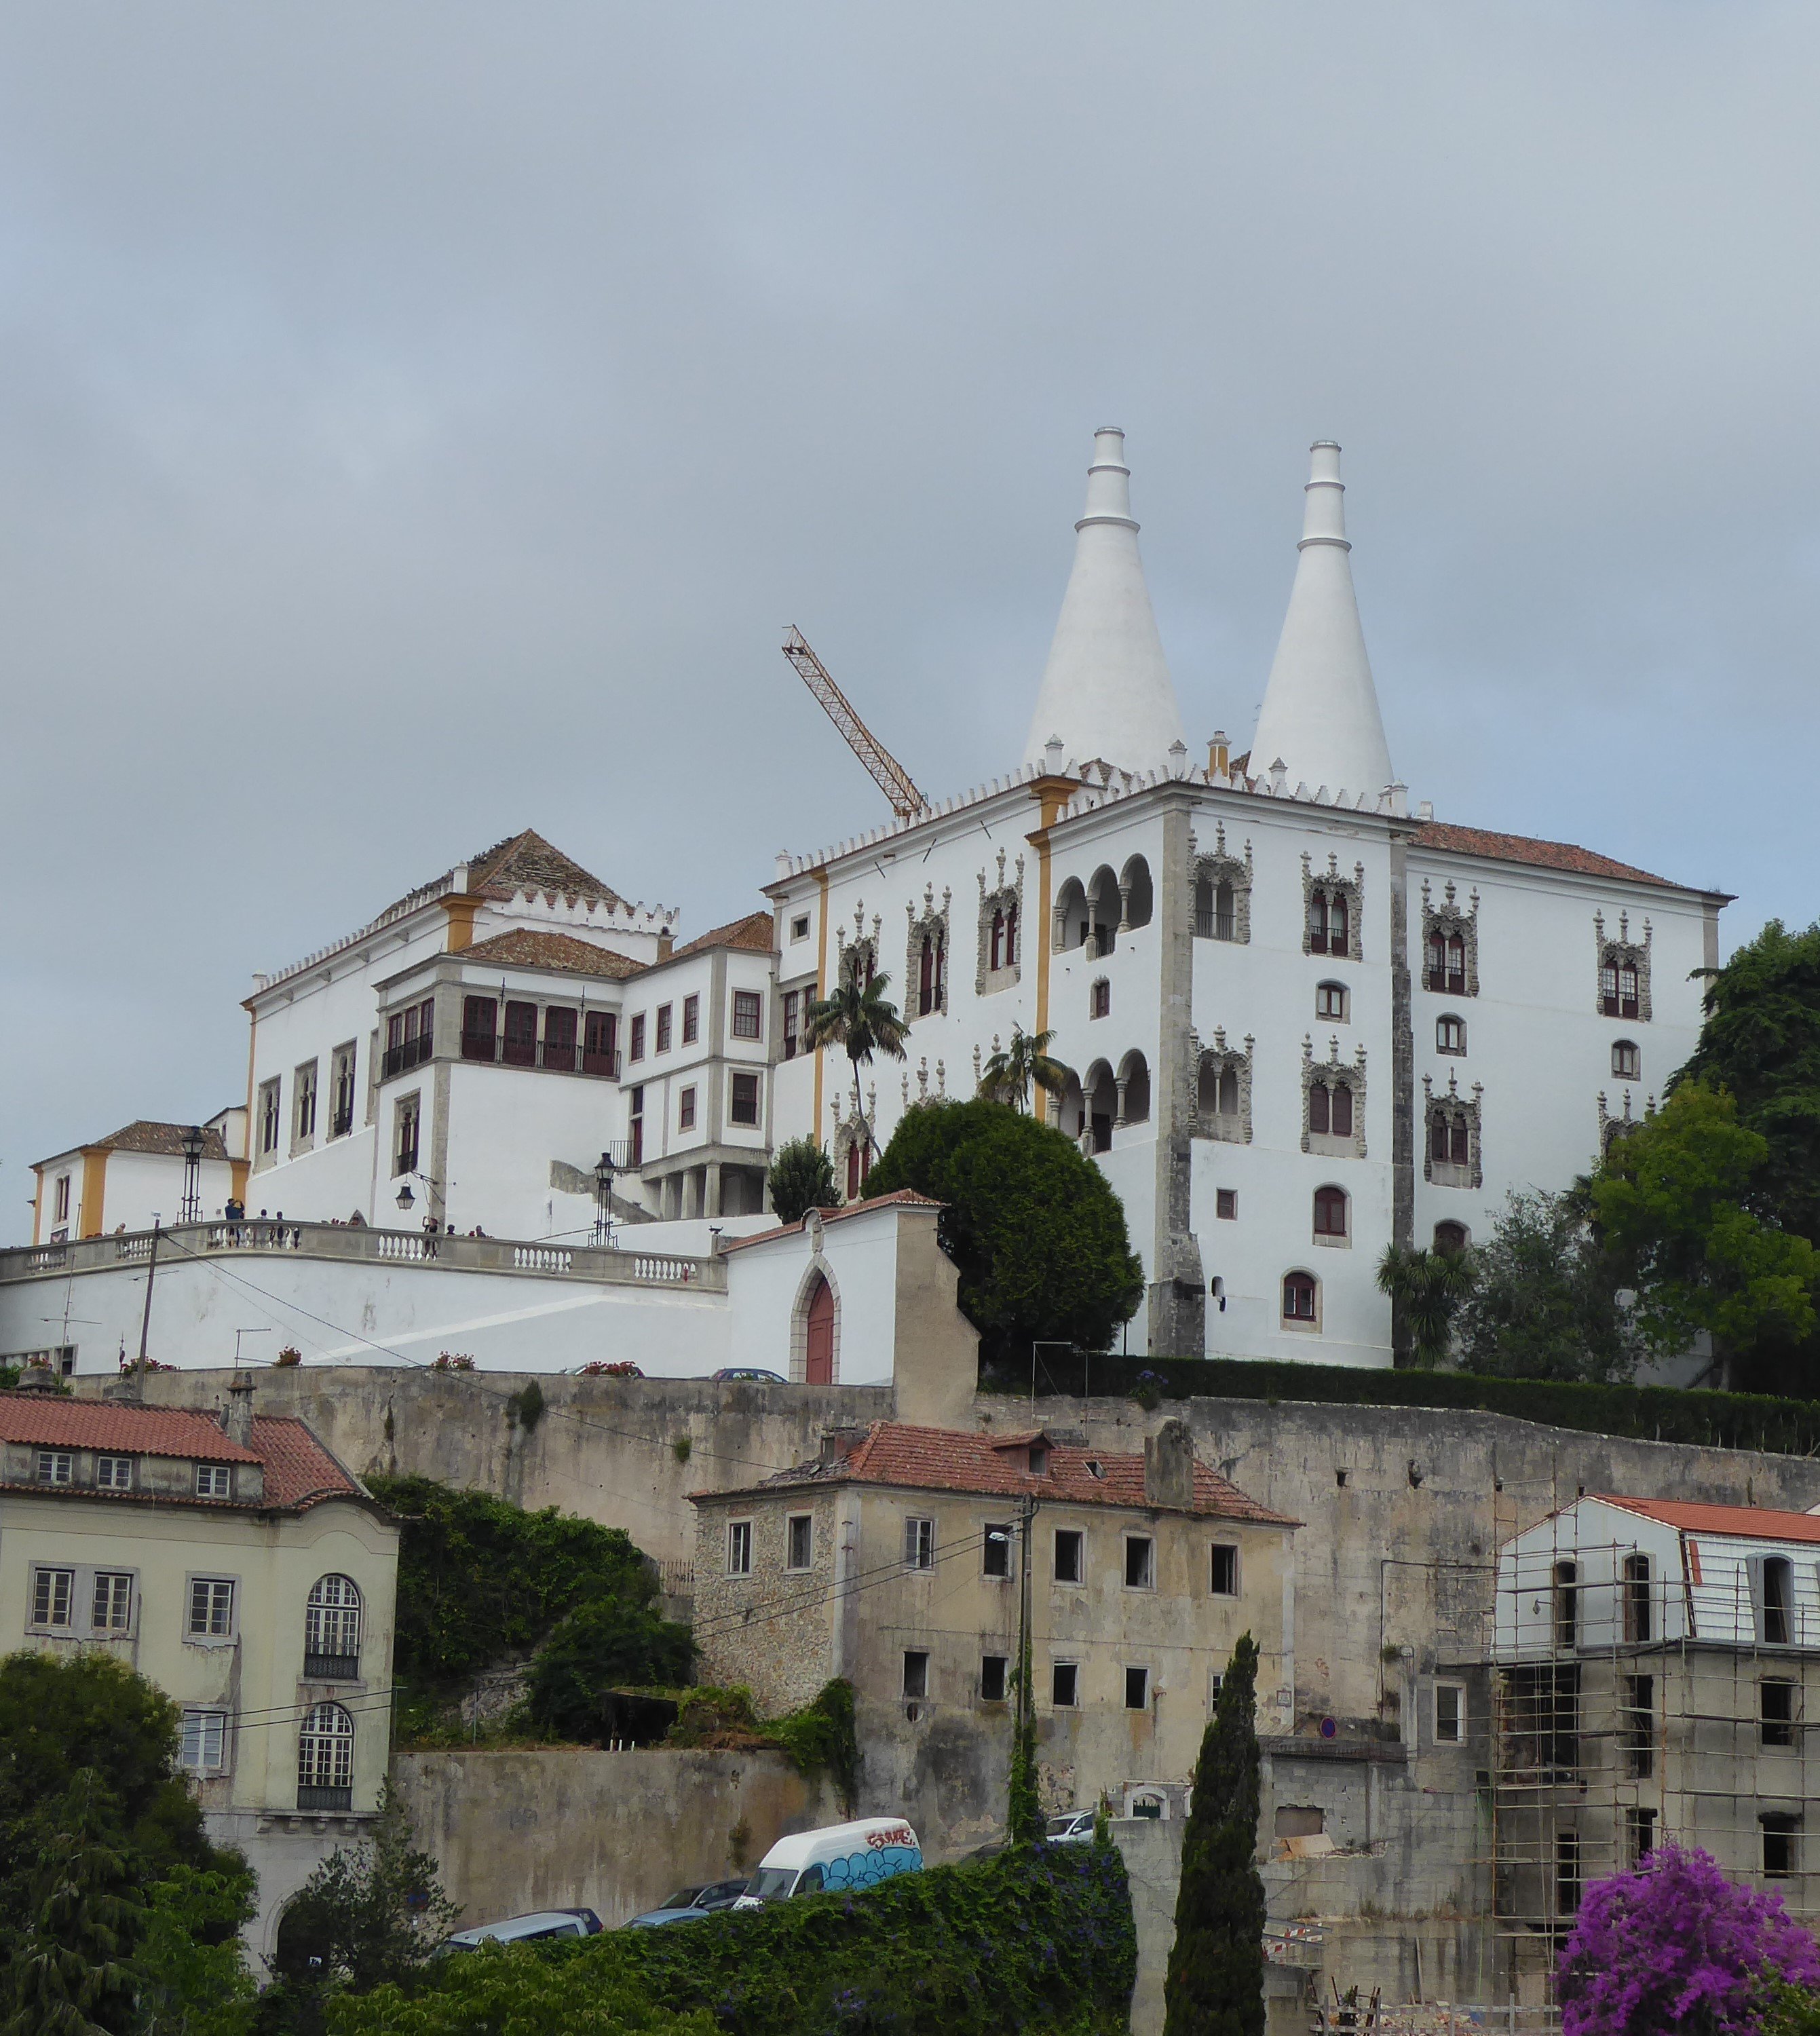
[(1004, 1104), (910, 1110), (867, 1191), (912, 1187), (945, 1203), (943, 1250), (981, 1358), (1036, 1342), (1105, 1350), (1144, 1297), (1144, 1268), (1105, 1175), (1071, 1138)]

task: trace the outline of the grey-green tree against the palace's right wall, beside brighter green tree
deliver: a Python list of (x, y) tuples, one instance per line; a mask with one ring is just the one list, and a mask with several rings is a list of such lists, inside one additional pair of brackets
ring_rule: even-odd
[(1586, 1209), (1586, 1195), (1572, 1189), (1509, 1197), (1468, 1258), (1472, 1285), (1456, 1321), (1464, 1370), (1600, 1384), (1637, 1370), (1643, 1340)]

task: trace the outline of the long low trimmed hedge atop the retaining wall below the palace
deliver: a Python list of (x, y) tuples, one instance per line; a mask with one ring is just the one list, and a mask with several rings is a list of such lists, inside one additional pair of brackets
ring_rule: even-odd
[[(983, 1366), (983, 1393), (1028, 1393), (1030, 1370)], [(1478, 1372), (1364, 1370), (1350, 1364), (1268, 1364), (1250, 1358), (1126, 1358), (1040, 1354), (1038, 1393), (1162, 1399), (1319, 1401), (1338, 1407), (1458, 1407), (1509, 1413), (1549, 1427), (1718, 1450), (1820, 1450), (1820, 1403), (1767, 1393), (1688, 1393), (1680, 1387), (1582, 1387)]]

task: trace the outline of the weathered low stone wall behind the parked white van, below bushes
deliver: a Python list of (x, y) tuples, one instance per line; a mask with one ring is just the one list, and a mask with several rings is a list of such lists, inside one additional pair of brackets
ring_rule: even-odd
[(590, 1908), (611, 1930), (841, 1820), (782, 1753), (401, 1753), (395, 1773), (464, 1926)]

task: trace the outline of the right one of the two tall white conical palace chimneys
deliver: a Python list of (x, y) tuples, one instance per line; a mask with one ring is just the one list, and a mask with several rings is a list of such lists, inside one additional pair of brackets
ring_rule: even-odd
[(1291, 786), (1376, 798), (1392, 778), (1390, 745), (1352, 590), (1340, 448), (1321, 440), (1311, 452), (1301, 556), (1258, 709), (1250, 772), (1268, 776), (1281, 757)]

